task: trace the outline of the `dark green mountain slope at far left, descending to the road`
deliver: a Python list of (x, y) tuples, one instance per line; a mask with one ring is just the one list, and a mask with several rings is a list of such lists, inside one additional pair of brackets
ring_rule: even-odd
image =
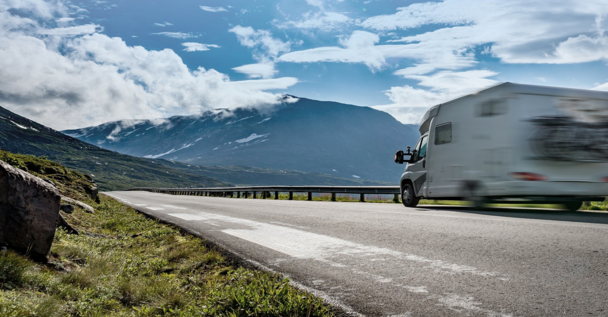
[[(227, 182), (180, 171), (157, 160), (98, 148), (0, 107), (0, 149), (41, 156), (91, 175), (103, 191), (136, 186), (224, 186)], [(171, 163), (171, 162), (168, 162)]]

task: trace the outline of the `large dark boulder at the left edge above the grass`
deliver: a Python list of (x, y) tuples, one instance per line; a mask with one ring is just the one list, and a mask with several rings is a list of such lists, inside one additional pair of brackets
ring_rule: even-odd
[(46, 261), (60, 201), (52, 185), (0, 161), (0, 242)]

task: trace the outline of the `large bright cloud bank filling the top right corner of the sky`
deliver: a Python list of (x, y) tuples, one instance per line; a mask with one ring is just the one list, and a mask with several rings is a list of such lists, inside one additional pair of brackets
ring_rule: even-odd
[(446, 0), (410, 4), (393, 15), (368, 18), (362, 26), (385, 32), (445, 25), (396, 41), (435, 44), (447, 52), (487, 44), (482, 53), (505, 63), (564, 64), (608, 60), (601, 29), (607, 14), (603, 0)]

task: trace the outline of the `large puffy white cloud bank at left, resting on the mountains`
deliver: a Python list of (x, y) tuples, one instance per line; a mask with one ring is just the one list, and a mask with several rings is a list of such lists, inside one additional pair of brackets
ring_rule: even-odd
[(28, 1), (19, 5), (31, 18), (0, 5), (0, 106), (55, 129), (196, 115), (218, 107), (267, 110), (283, 100), (264, 90), (297, 83), (296, 78), (230, 81), (213, 69), (189, 70), (173, 50), (128, 46), (100, 33), (41, 36), (48, 21), (67, 10), (55, 2)]

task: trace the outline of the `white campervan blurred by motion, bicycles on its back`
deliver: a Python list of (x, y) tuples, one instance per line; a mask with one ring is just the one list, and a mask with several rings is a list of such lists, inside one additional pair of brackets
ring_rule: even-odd
[[(553, 202), (608, 196), (608, 92), (504, 83), (431, 107), (396, 163), (418, 200)], [(409, 155), (409, 159), (404, 159)]]

